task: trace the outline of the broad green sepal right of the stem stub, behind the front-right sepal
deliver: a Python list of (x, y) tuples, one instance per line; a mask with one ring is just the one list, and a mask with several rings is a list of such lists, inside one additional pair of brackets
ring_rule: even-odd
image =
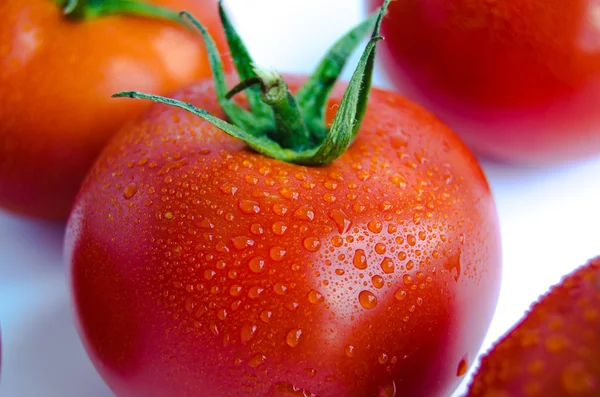
[(352, 52), (375, 25), (378, 15), (378, 13), (371, 15), (339, 39), (296, 93), (296, 100), (305, 120), (309, 123), (308, 128), (318, 142), (322, 142), (327, 135), (325, 108), (329, 93), (342, 74)]

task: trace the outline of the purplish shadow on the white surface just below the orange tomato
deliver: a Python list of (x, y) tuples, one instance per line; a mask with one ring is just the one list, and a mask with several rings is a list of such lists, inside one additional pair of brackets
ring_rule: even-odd
[(29, 279), (62, 267), (64, 229), (0, 210), (0, 280)]

